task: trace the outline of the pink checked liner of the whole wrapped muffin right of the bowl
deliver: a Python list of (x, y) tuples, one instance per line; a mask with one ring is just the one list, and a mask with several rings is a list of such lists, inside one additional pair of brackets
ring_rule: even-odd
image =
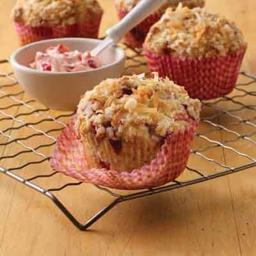
[(184, 86), (194, 99), (209, 100), (232, 92), (243, 61), (246, 47), (236, 53), (212, 58), (186, 58), (164, 53), (157, 56), (144, 47), (148, 67), (159, 76), (168, 76)]

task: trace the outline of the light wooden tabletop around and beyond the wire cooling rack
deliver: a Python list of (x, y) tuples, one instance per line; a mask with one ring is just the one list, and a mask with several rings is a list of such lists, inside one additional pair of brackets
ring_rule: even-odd
[[(14, 2), (0, 1), (0, 59), (18, 47), (10, 22)], [(115, 24), (116, 14), (113, 0), (100, 3), (105, 9), (104, 35)], [(256, 1), (208, 0), (207, 8), (236, 20), (249, 43), (243, 70), (256, 73)], [(4, 129), (2, 123), (0, 129)], [(252, 148), (244, 150), (249, 153)], [(3, 155), (15, 148), (0, 150)], [(220, 149), (217, 154), (222, 157)], [(26, 157), (24, 161), (31, 160)], [(236, 164), (238, 160), (227, 157), (226, 161)], [(28, 168), (33, 170), (40, 172)], [(0, 256), (256, 255), (255, 171), (120, 204), (88, 232), (77, 230), (47, 198), (0, 175)], [(109, 202), (108, 195), (90, 185), (67, 189), (62, 195), (79, 220)]]

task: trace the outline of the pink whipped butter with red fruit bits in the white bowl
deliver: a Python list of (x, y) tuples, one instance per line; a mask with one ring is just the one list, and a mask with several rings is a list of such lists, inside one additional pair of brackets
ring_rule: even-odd
[(90, 52), (70, 51), (62, 44), (51, 46), (46, 52), (36, 52), (35, 61), (29, 65), (40, 71), (76, 72), (102, 67), (98, 57), (92, 57)]

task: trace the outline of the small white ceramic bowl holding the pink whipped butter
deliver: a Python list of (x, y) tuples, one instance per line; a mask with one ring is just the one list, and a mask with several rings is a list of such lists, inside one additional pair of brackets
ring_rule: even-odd
[(36, 52), (45, 52), (51, 45), (64, 44), (72, 51), (90, 51), (100, 40), (90, 38), (58, 38), (44, 40), (17, 49), (11, 58), (15, 77), (25, 92), (51, 109), (76, 110), (81, 96), (102, 80), (120, 77), (125, 53), (118, 47), (108, 47), (99, 57), (103, 67), (82, 72), (41, 72), (29, 68)]

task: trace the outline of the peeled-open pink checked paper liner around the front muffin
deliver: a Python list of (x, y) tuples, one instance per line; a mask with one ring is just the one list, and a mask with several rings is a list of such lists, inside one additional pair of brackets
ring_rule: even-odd
[(131, 173), (118, 173), (115, 170), (88, 166), (83, 143), (74, 129), (75, 122), (76, 116), (61, 132), (52, 154), (52, 168), (83, 182), (127, 190), (154, 188), (179, 177), (188, 162), (191, 143), (198, 125), (198, 122), (193, 121), (184, 131), (170, 134), (150, 164)]

